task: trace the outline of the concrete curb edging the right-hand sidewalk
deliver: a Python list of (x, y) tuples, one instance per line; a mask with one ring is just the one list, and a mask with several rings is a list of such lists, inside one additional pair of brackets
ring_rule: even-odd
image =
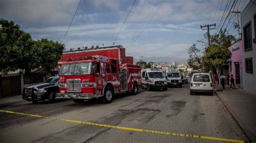
[(235, 112), (228, 106), (228, 104), (224, 101), (223, 98), (221, 98), (218, 94), (217, 91), (213, 90), (217, 97), (220, 99), (221, 103), (225, 106), (228, 112), (230, 112), (230, 115), (234, 118), (234, 120), (237, 122), (241, 130), (245, 133), (246, 137), (249, 139), (250, 142), (256, 141), (255, 135), (247, 128), (245, 123), (235, 114)]

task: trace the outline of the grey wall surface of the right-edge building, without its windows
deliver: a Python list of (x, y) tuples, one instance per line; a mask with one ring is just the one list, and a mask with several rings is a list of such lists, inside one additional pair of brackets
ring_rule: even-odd
[[(256, 2), (255, 0), (252, 0)], [(256, 93), (256, 43), (253, 43), (253, 39), (255, 38), (255, 31), (254, 31), (254, 18), (253, 16), (256, 14), (256, 5), (252, 2), (249, 2), (244, 10), (241, 12), (241, 28), (242, 28), (242, 45), (243, 45), (243, 52), (244, 52), (244, 90)], [(244, 27), (251, 21), (251, 39), (252, 39), (252, 50), (245, 51), (245, 33)], [(255, 39), (256, 40), (256, 39)], [(253, 73), (246, 73), (246, 62), (245, 58), (252, 58), (253, 61)]]

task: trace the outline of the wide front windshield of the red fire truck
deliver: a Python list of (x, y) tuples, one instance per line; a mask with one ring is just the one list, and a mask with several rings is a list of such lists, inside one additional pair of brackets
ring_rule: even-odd
[(93, 73), (95, 73), (95, 63), (84, 62), (62, 65), (59, 75), (89, 75)]

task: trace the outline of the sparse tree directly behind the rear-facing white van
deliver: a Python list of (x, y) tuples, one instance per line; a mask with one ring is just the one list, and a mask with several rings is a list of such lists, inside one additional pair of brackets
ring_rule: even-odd
[(187, 65), (193, 69), (200, 69), (201, 68), (201, 56), (199, 55), (200, 49), (196, 47), (196, 44), (193, 44), (190, 48), (188, 48), (187, 53), (189, 54)]

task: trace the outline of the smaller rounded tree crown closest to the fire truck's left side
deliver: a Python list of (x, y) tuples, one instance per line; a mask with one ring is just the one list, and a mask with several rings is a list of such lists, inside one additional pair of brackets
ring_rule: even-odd
[(41, 39), (35, 41), (33, 47), (35, 47), (33, 49), (37, 49), (37, 51), (33, 51), (36, 53), (33, 55), (33, 58), (38, 60), (37, 66), (52, 69), (56, 67), (65, 46), (59, 42)]

